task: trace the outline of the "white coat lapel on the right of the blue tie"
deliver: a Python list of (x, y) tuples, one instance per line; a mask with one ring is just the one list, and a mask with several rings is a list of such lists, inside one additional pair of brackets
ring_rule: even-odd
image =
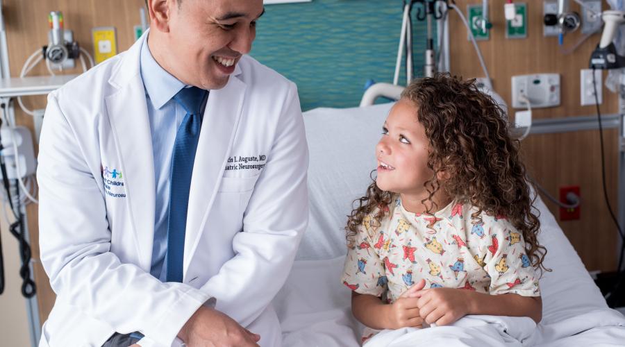
[(185, 274), (205, 229), (208, 212), (215, 202), (241, 118), (246, 85), (236, 77), (238, 74), (240, 67), (226, 87), (211, 90), (208, 94), (191, 178), (185, 230)]

